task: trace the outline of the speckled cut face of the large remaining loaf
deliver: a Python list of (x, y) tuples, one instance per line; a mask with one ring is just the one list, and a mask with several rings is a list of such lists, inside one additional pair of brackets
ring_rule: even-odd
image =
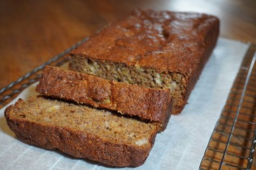
[(83, 55), (72, 55), (71, 70), (96, 75), (107, 80), (139, 84), (150, 88), (170, 89), (173, 98), (173, 114), (179, 114), (186, 104), (186, 80), (181, 73), (171, 73), (143, 68), (139, 65), (127, 66), (123, 63), (98, 61)]

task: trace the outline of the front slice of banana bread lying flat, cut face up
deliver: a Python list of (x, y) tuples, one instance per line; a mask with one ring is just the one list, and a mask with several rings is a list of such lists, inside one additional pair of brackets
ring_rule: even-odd
[(25, 143), (117, 167), (142, 165), (159, 129), (157, 123), (42, 96), (19, 99), (5, 118)]

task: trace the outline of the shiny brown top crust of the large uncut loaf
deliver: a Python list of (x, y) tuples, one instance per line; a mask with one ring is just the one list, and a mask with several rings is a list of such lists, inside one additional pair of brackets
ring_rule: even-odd
[(134, 10), (71, 52), (96, 60), (190, 74), (200, 63), (217, 17), (192, 12)]

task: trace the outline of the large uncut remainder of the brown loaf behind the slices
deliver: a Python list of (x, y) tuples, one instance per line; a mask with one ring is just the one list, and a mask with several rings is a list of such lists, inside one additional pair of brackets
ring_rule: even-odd
[(214, 16), (134, 10), (73, 50), (69, 66), (109, 80), (170, 89), (173, 114), (178, 114), (218, 34)]

